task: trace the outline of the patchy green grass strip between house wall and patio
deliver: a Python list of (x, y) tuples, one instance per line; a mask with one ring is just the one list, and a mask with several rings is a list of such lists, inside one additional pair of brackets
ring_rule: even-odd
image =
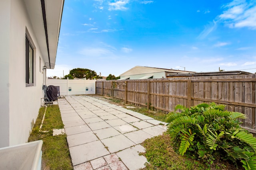
[(72, 170), (72, 162), (68, 149), (66, 135), (52, 136), (53, 129), (62, 129), (64, 125), (60, 116), (58, 105), (48, 106), (44, 124), (40, 132), (39, 127), (44, 115), (44, 107), (39, 110), (38, 118), (30, 134), (28, 142), (42, 140), (42, 169), (46, 170)]

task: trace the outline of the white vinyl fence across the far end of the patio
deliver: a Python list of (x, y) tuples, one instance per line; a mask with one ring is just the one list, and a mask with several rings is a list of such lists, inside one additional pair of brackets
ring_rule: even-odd
[(60, 96), (77, 94), (96, 94), (96, 80), (47, 79), (47, 86), (59, 86)]

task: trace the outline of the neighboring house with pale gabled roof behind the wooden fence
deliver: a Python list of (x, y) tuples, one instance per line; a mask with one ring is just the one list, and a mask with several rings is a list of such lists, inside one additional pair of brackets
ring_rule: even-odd
[(120, 79), (147, 79), (147, 78), (166, 78), (168, 73), (193, 73), (191, 71), (173, 70), (166, 68), (154, 68), (146, 66), (135, 66), (130, 70), (120, 74)]

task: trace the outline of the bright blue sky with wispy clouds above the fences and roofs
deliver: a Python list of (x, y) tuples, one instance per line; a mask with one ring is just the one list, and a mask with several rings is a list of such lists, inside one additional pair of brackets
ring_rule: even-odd
[(54, 70), (256, 72), (256, 1), (65, 0)]

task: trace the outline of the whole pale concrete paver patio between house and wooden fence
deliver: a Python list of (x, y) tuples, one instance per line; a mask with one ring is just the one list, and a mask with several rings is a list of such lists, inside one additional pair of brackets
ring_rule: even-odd
[(160, 121), (102, 97), (66, 96), (59, 101), (74, 170), (144, 168), (140, 143), (166, 131)]

